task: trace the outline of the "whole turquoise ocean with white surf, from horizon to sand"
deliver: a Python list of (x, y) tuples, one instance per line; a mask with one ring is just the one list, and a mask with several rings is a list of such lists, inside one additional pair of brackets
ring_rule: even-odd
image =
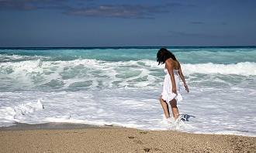
[(0, 127), (68, 122), (256, 136), (256, 47), (168, 47), (182, 64), (180, 114), (158, 98), (160, 47), (0, 48)]

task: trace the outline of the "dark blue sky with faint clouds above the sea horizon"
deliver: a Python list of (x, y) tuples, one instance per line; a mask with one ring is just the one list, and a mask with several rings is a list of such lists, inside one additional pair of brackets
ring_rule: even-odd
[(256, 1), (0, 0), (8, 46), (256, 46)]

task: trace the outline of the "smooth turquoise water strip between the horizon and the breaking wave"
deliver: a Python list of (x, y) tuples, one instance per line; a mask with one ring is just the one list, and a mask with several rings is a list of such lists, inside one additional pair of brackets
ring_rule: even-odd
[[(74, 60), (97, 59), (104, 61), (155, 60), (158, 47), (137, 48), (23, 48), (0, 49), (0, 61), (27, 59)], [(176, 47), (168, 49), (175, 53), (181, 63), (240, 63), (256, 62), (255, 47)], [(12, 57), (15, 56), (15, 57)]]

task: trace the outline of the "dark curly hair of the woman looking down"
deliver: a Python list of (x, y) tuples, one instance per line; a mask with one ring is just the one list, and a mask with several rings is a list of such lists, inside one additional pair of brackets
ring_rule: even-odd
[(165, 48), (161, 48), (158, 50), (157, 52), (157, 62), (158, 62), (158, 65), (161, 63), (165, 63), (165, 60), (166, 59), (173, 59), (173, 60), (177, 60), (175, 55), (173, 53), (171, 53), (168, 49), (165, 49)]

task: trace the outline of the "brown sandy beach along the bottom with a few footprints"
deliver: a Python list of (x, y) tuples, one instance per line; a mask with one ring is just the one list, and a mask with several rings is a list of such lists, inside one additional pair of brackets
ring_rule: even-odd
[(0, 130), (0, 152), (256, 152), (256, 138), (81, 124), (18, 124)]

